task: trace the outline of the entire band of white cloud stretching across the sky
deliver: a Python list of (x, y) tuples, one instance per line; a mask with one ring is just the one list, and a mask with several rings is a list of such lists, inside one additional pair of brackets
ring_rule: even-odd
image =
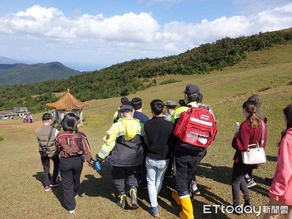
[[(10, 51), (15, 47), (19, 55), (38, 58), (52, 55), (57, 61), (73, 60), (78, 55), (78, 61), (114, 64), (133, 58), (179, 54), (226, 36), (249, 36), (289, 27), (292, 3), (250, 16), (166, 24), (159, 24), (151, 13), (129, 12), (109, 18), (103, 14), (83, 14), (69, 18), (57, 8), (34, 5), (25, 12), (0, 18), (0, 41), (9, 43)], [(22, 47), (26, 50), (21, 51)]]

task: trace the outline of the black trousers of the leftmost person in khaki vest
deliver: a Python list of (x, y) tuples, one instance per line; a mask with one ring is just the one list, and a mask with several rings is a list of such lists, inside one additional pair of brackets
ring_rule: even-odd
[(52, 159), (54, 163), (54, 170), (53, 170), (53, 179), (52, 182), (58, 182), (58, 175), (59, 175), (59, 155), (55, 155), (51, 158), (45, 158), (45, 157), (40, 157), (41, 164), (43, 165), (44, 168), (44, 181), (45, 181), (45, 186), (51, 184), (51, 174), (50, 174), (50, 160)]

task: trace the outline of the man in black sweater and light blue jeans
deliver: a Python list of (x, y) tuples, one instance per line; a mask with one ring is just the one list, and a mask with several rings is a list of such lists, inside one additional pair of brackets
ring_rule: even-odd
[(144, 129), (148, 139), (146, 153), (147, 188), (151, 207), (148, 212), (153, 217), (159, 217), (157, 195), (162, 187), (164, 174), (173, 151), (170, 139), (173, 123), (166, 121), (162, 115), (164, 103), (153, 100), (150, 103), (153, 118), (146, 121)]

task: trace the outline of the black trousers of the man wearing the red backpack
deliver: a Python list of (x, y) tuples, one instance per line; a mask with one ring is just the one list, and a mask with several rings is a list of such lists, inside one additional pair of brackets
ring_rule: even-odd
[(190, 194), (190, 184), (192, 182), (196, 169), (200, 164), (200, 161), (200, 155), (190, 155), (187, 152), (179, 150), (175, 152), (175, 189), (178, 192), (179, 197)]

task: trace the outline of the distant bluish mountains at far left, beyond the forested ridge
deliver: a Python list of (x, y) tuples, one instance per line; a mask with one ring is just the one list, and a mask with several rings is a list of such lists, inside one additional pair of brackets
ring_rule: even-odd
[[(10, 64), (7, 64), (10, 63)], [(0, 85), (30, 84), (82, 74), (60, 62), (24, 64), (0, 56)]]

